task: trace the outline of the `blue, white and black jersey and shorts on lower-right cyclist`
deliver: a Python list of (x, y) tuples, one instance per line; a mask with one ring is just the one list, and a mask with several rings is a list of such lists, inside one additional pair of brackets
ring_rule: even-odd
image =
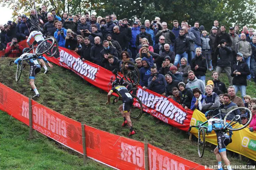
[[(224, 121), (222, 119), (217, 119), (217, 118), (211, 118), (208, 120), (208, 129), (207, 132), (214, 132), (217, 135), (217, 143), (218, 143), (218, 149), (219, 152), (226, 151), (227, 145), (230, 143), (230, 139), (232, 136), (232, 131), (229, 131), (229, 135), (227, 133), (222, 133), (223, 130), (223, 124)], [(214, 129), (213, 129), (214, 126)]]

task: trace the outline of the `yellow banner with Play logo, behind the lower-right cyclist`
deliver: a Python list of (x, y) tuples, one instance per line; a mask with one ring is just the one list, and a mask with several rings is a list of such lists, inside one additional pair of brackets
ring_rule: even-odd
[[(198, 122), (203, 123), (205, 121), (207, 121), (207, 119), (204, 114), (196, 109), (192, 115), (190, 126), (196, 126)], [(208, 126), (208, 124), (204, 126)], [(190, 132), (198, 137), (198, 128), (192, 128)], [(208, 135), (205, 134), (205, 140), (217, 145), (217, 137), (214, 131)], [(227, 149), (256, 160), (256, 132), (250, 132), (248, 128), (233, 131), (232, 143), (227, 146)]]

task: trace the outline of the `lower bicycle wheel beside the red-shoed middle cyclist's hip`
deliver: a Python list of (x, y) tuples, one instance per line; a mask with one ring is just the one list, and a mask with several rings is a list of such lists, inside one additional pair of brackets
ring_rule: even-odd
[(132, 120), (138, 120), (143, 112), (143, 106), (140, 99), (136, 95), (131, 95), (133, 98), (133, 104), (130, 108), (130, 118)]

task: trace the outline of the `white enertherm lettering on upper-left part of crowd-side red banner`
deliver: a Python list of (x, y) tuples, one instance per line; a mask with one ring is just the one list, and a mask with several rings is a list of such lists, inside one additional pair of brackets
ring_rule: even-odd
[[(64, 66), (62, 64), (65, 63), (68, 67), (75, 70), (77, 73), (79, 73), (79, 76), (86, 76), (91, 80), (95, 79), (95, 74), (97, 73), (98, 69), (90, 66), (86, 63), (84, 63), (80, 58), (75, 58), (68, 52), (61, 50), (60, 51), (60, 65)], [(64, 66), (65, 67), (65, 66)]]

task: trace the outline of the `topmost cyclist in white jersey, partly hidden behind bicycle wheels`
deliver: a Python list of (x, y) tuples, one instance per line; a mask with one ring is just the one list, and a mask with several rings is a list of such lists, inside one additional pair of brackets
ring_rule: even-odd
[[(30, 34), (28, 36), (28, 39), (27, 39), (27, 44), (30, 46), (30, 39), (33, 37), (35, 41), (37, 41), (38, 44), (40, 44), (43, 40), (44, 40), (44, 36), (43, 34), (41, 33), (41, 31), (38, 31), (35, 27), (30, 27), (29, 29), (30, 31)], [(38, 57), (39, 58), (39, 57)], [(40, 63), (43, 65), (43, 68), (45, 69), (44, 71), (44, 74), (48, 73), (49, 70), (48, 68), (46, 67), (43, 59), (39, 59)]]

